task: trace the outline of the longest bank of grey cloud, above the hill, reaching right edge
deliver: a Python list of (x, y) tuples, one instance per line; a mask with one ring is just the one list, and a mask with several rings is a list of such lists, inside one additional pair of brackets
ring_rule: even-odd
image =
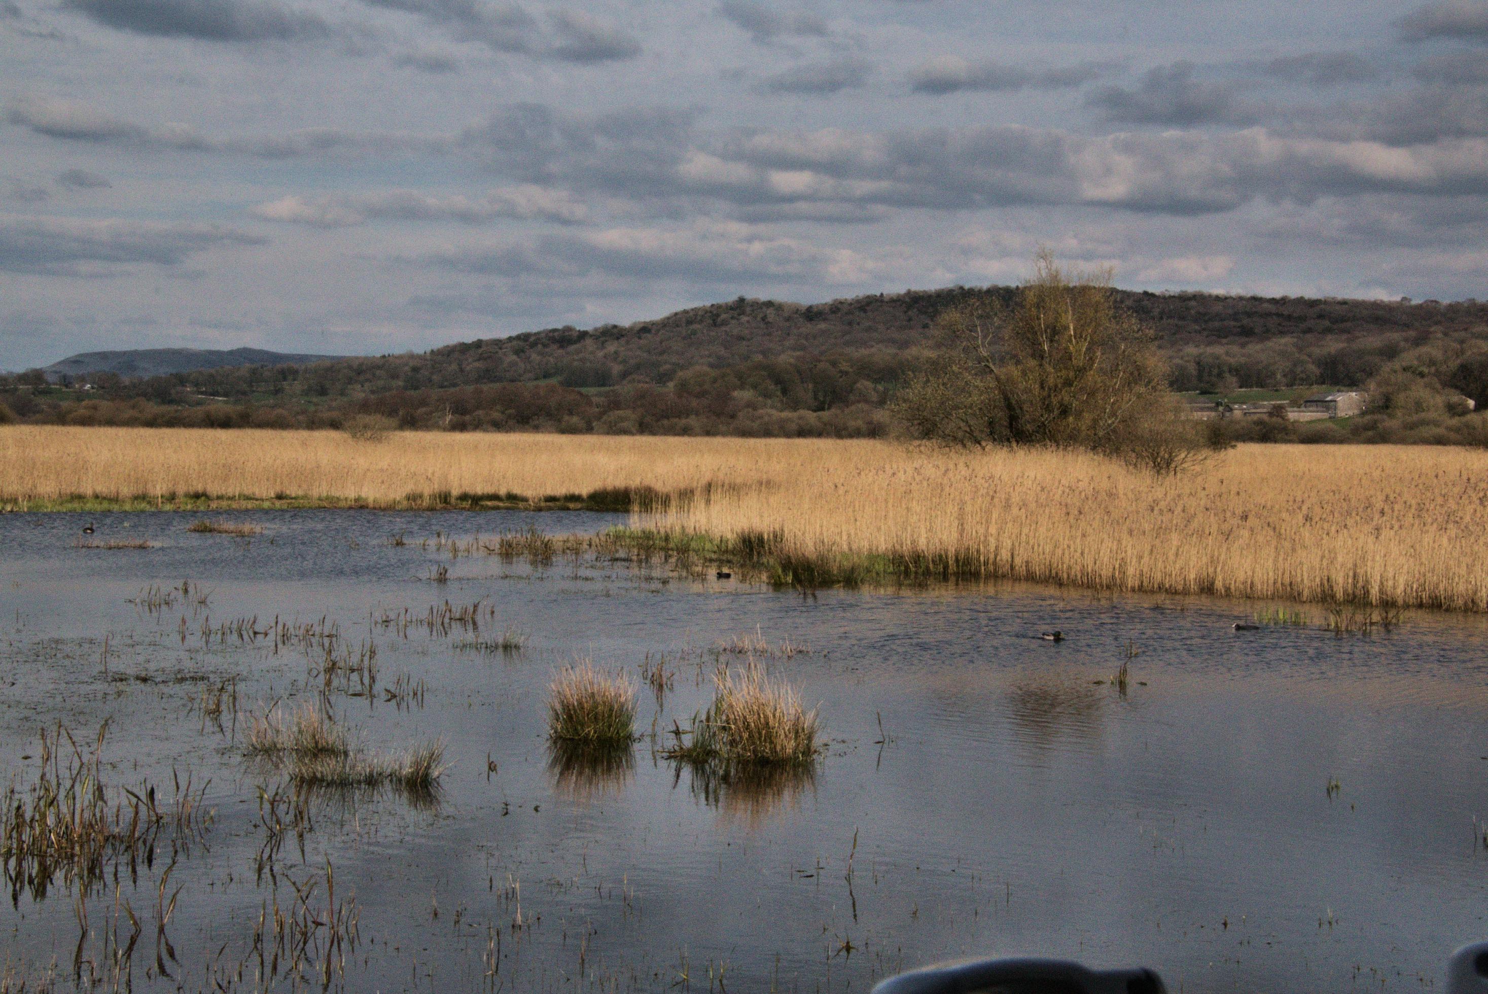
[(836, 201), (982, 210), (1080, 204), (1198, 214), (1257, 198), (1488, 192), (1488, 141), (1415, 147), (1256, 128), (1082, 137), (1019, 126), (754, 132), (695, 155), (679, 177), (735, 202)]

